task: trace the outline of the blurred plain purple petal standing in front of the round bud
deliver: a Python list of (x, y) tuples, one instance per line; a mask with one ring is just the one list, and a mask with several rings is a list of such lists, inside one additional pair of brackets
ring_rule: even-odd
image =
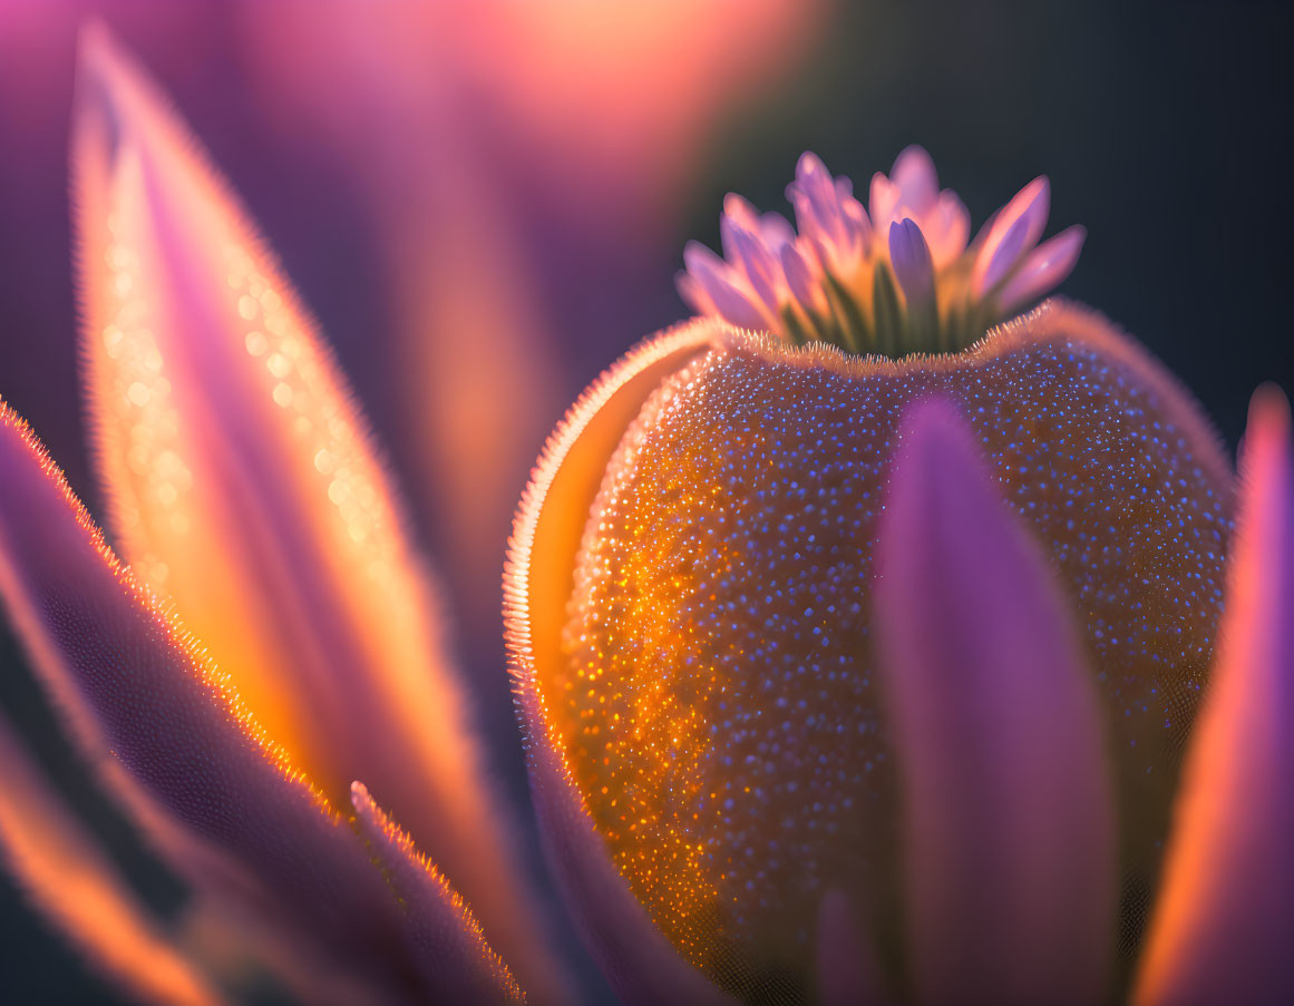
[(903, 424), (873, 626), (924, 1002), (1096, 1002), (1114, 910), (1096, 694), (1062, 594), (954, 407)]

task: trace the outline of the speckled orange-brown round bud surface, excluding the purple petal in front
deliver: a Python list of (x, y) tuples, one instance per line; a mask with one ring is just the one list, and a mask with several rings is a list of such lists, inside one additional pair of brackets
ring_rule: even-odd
[(1232, 526), (1189, 401), (1065, 305), (899, 362), (734, 339), (624, 436), (567, 659), (537, 685), (639, 901), (745, 994), (793, 993), (823, 892), (875, 905), (893, 869), (872, 544), (897, 423), (925, 393), (960, 406), (1069, 591), (1109, 719), (1132, 923), (1153, 884)]

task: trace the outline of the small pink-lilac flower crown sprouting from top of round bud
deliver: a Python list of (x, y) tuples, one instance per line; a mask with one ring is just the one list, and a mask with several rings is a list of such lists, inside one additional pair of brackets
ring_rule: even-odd
[(868, 206), (846, 177), (804, 154), (787, 186), (796, 228), (729, 194), (721, 259), (691, 242), (678, 290), (697, 314), (851, 353), (954, 353), (1040, 300), (1078, 261), (1086, 231), (1039, 244), (1049, 187), (1034, 178), (974, 241), (970, 215), (939, 190), (930, 155), (910, 146), (872, 177)]

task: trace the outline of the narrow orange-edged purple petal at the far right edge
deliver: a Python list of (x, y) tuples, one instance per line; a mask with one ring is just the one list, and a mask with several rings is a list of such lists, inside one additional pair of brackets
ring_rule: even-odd
[(1294, 438), (1260, 388), (1218, 661), (1136, 1002), (1294, 1002)]

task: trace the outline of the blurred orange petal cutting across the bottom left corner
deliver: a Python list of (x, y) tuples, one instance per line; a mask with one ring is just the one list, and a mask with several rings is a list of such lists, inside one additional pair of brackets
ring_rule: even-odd
[(0, 719), (0, 862), (32, 904), (132, 1000), (217, 1006)]

